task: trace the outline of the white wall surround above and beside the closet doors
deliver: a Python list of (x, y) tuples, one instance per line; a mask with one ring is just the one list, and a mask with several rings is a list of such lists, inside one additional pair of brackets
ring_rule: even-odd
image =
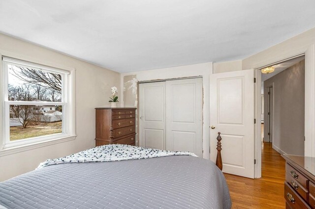
[[(202, 76), (203, 80), (203, 158), (209, 159), (209, 95), (210, 95), (210, 87), (209, 87), (209, 79), (210, 74), (212, 73), (212, 63), (202, 63), (202, 64), (195, 64), (195, 65), (186, 65), (186, 66), (179, 66), (179, 67), (172, 67), (172, 68), (163, 68), (163, 69), (156, 69), (156, 70), (148, 70), (148, 71), (139, 71), (139, 72), (132, 72), (132, 73), (123, 73), (121, 75), (121, 89), (124, 89), (124, 84), (127, 83), (129, 86), (130, 80), (135, 81), (144, 81), (144, 80), (157, 80), (157, 79), (170, 79), (170, 78), (185, 78), (185, 77), (195, 77), (195, 76)], [(128, 80), (128, 79), (130, 80)], [(129, 91), (128, 88), (125, 89), (124, 92), (122, 90), (122, 95), (125, 93), (124, 98), (128, 101), (122, 101), (130, 106), (136, 106), (137, 103), (137, 95), (130, 95), (130, 94), (137, 94), (137, 90)], [(128, 95), (126, 95), (128, 94)], [(129, 101), (132, 100), (132, 101)], [(135, 101), (134, 101), (135, 100)]]

